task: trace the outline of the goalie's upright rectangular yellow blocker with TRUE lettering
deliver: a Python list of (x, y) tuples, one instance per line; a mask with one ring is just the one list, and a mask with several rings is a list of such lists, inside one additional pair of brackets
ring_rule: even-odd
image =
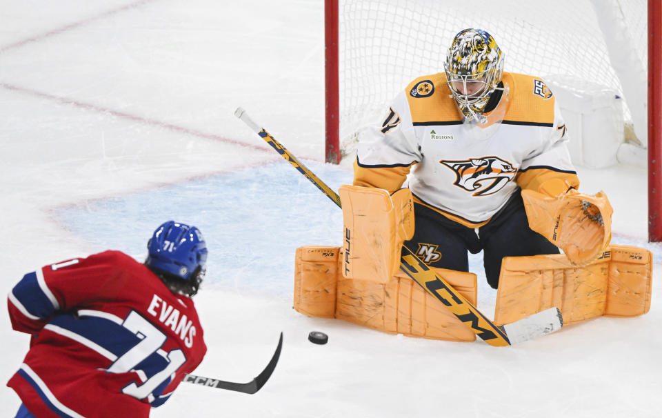
[(412, 192), (343, 185), (343, 276), (388, 282), (399, 270), (402, 244), (414, 235)]

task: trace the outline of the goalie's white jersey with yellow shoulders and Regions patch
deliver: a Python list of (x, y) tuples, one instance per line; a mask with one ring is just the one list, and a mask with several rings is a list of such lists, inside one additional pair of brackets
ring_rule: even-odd
[(412, 81), (382, 126), (361, 132), (354, 185), (394, 192), (408, 180), (417, 203), (471, 228), (519, 188), (537, 191), (556, 178), (577, 188), (552, 92), (528, 75), (504, 72), (501, 81), (503, 120), (485, 126), (463, 123), (444, 74)]

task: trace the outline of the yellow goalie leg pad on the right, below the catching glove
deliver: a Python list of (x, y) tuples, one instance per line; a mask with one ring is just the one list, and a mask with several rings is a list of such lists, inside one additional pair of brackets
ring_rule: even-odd
[(510, 324), (556, 306), (564, 324), (602, 315), (634, 317), (650, 309), (652, 254), (644, 248), (610, 246), (588, 266), (563, 255), (505, 257), (494, 323)]

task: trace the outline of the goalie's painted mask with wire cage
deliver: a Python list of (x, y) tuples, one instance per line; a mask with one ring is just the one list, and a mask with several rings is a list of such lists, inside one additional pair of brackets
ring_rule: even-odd
[(444, 71), (464, 117), (483, 125), (488, 123), (483, 113), (503, 72), (503, 53), (492, 35), (481, 29), (465, 29), (455, 35)]

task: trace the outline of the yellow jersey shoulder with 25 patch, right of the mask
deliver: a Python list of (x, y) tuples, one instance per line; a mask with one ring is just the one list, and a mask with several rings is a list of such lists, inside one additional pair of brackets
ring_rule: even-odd
[(503, 117), (504, 123), (554, 124), (556, 98), (540, 77), (503, 72), (501, 81), (510, 92), (508, 111)]

